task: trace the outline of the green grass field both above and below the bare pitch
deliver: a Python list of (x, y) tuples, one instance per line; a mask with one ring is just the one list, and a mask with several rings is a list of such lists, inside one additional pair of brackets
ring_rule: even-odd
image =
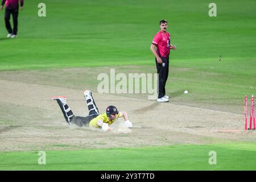
[[(175, 103), (209, 109), (224, 107), (243, 114), (243, 97), (256, 94), (254, 0), (214, 1), (217, 17), (208, 16), (210, 2), (204, 0), (46, 0), (46, 17), (38, 17), (40, 2), (24, 3), (19, 12), (17, 39), (5, 38), (1, 11), (1, 72), (71, 67), (118, 69), (124, 65), (136, 65), (137, 72), (152, 72), (155, 61), (150, 45), (159, 31), (159, 20), (164, 18), (168, 20), (171, 43), (177, 46), (171, 52), (167, 82), (168, 94)], [(184, 90), (189, 90), (189, 99), (181, 96)], [(208, 152), (212, 150), (217, 152), (217, 165), (208, 163)], [(45, 166), (37, 164), (37, 152), (2, 152), (0, 169), (255, 170), (255, 151), (255, 143), (246, 142), (47, 151)]]

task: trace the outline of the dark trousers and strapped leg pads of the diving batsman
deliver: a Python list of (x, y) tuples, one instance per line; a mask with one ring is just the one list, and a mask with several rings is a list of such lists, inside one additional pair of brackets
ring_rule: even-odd
[(86, 117), (73, 115), (72, 110), (67, 104), (63, 105), (63, 103), (60, 100), (57, 100), (57, 103), (59, 104), (60, 109), (63, 112), (64, 118), (68, 123), (72, 123), (77, 126), (89, 126), (90, 121), (99, 115), (98, 108), (93, 100), (92, 94), (90, 94), (90, 96), (85, 97), (85, 99), (89, 109), (89, 115)]

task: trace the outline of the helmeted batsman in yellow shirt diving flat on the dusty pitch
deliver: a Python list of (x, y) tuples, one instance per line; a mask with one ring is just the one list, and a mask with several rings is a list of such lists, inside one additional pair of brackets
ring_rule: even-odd
[(119, 112), (117, 107), (108, 106), (106, 113), (99, 114), (98, 108), (93, 100), (92, 92), (90, 90), (84, 91), (84, 97), (89, 109), (89, 115), (86, 117), (80, 117), (73, 115), (72, 110), (67, 105), (66, 96), (54, 96), (52, 100), (56, 100), (60, 109), (64, 115), (65, 120), (69, 125), (75, 124), (77, 126), (92, 126), (101, 128), (103, 131), (113, 130), (109, 125), (117, 121), (118, 118), (123, 117), (125, 119), (125, 126), (131, 128), (133, 125), (128, 120), (126, 111)]

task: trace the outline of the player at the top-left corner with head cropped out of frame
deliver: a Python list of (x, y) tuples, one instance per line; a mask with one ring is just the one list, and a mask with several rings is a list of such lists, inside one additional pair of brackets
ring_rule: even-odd
[[(18, 13), (23, 9), (23, 0), (2, 0), (1, 10), (5, 5), (5, 26), (8, 31), (7, 38), (16, 38), (18, 32)], [(11, 28), (10, 18), (13, 15), (13, 29)]]

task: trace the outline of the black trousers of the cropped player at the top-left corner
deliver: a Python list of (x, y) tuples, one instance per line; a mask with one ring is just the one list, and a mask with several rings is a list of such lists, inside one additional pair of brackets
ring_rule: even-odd
[[(10, 17), (11, 14), (13, 15), (13, 30), (11, 28), (10, 24)], [(9, 34), (17, 35), (18, 31), (18, 14), (19, 14), (19, 8), (18, 9), (5, 9), (5, 27)]]

